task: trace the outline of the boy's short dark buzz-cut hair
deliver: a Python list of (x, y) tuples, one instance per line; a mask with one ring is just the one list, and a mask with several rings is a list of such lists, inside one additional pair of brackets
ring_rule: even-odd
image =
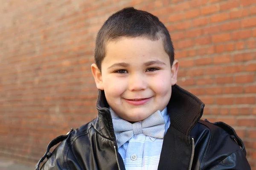
[(162, 39), (172, 66), (174, 47), (167, 28), (153, 14), (128, 7), (112, 14), (97, 34), (94, 59), (100, 71), (106, 54), (105, 45), (121, 37), (146, 37), (152, 41)]

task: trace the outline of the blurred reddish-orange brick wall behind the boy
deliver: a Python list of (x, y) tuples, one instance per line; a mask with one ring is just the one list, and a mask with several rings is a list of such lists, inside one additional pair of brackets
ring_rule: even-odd
[(96, 116), (96, 33), (125, 6), (166, 24), (177, 84), (206, 103), (204, 118), (235, 127), (256, 169), (256, 0), (2, 0), (0, 156), (35, 164)]

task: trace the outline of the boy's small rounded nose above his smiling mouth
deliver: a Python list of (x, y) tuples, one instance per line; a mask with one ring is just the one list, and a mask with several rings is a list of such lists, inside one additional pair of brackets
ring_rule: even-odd
[(129, 77), (129, 91), (142, 91), (147, 88), (147, 81), (144, 75), (133, 74)]

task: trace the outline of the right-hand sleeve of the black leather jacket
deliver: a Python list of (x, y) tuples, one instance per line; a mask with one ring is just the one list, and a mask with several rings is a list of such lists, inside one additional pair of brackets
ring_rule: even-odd
[(244, 143), (236, 131), (224, 122), (210, 124), (212, 126), (211, 139), (201, 169), (251, 170), (246, 159)]

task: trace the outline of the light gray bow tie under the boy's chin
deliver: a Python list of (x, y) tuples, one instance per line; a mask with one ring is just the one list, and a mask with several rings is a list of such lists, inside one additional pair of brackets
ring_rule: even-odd
[(148, 116), (141, 122), (130, 123), (124, 119), (112, 119), (116, 134), (118, 148), (136, 134), (154, 138), (163, 138), (165, 134), (165, 122), (160, 111)]

